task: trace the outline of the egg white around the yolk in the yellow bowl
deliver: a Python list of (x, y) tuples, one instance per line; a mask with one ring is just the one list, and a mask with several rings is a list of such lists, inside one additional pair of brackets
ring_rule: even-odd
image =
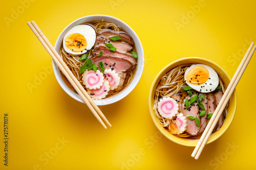
[[(193, 65), (191, 65), (190, 67), (188, 67), (186, 69), (185, 74), (184, 74), (184, 79), (186, 80), (186, 76), (187, 76), (188, 71), (191, 68), (195, 67), (195, 66), (205, 67), (209, 72), (209, 78), (210, 79), (208, 78), (208, 80), (204, 84), (201, 84), (201, 85), (194, 85), (194, 84), (191, 84), (191, 83), (186, 81), (187, 85), (189, 87), (193, 88), (194, 90), (199, 91), (199, 92), (203, 92), (203, 93), (208, 93), (208, 92), (214, 91), (219, 85), (219, 76), (218, 76), (217, 72), (214, 69), (212, 69), (211, 67), (209, 67), (208, 65), (204, 65), (204, 64), (193, 64)], [(200, 89), (201, 89), (201, 91), (200, 91)]]

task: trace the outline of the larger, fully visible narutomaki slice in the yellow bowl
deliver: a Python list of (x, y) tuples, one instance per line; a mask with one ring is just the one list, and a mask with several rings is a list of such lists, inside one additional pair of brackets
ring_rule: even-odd
[(158, 102), (158, 112), (165, 118), (172, 118), (178, 113), (179, 105), (173, 98), (162, 98)]

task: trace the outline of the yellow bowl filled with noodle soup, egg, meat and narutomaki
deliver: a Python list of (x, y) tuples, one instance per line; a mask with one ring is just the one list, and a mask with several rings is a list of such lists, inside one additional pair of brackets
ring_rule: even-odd
[[(174, 142), (195, 146), (229, 82), (226, 72), (206, 59), (191, 57), (170, 63), (150, 90), (150, 113), (156, 127)], [(216, 140), (232, 122), (235, 94), (207, 143)]]

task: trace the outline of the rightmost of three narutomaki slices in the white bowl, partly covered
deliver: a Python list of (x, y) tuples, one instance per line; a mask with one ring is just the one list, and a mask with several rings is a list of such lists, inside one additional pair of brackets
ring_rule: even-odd
[(120, 84), (120, 77), (115, 70), (105, 69), (104, 78), (110, 83), (110, 89), (114, 90)]

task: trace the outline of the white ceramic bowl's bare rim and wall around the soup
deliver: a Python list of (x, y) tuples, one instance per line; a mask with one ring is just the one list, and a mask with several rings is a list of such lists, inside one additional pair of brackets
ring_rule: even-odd
[[(133, 80), (131, 81), (131, 83), (128, 86), (126, 86), (122, 91), (120, 91), (118, 94), (113, 95), (110, 98), (106, 98), (106, 99), (102, 99), (102, 100), (96, 100), (95, 103), (98, 106), (112, 104), (112, 103), (115, 103), (115, 102), (123, 99), (138, 84), (138, 82), (140, 80), (140, 77), (142, 75), (143, 67), (144, 67), (144, 52), (143, 52), (142, 44), (141, 44), (140, 39), (137, 36), (137, 34), (125, 22), (123, 22), (120, 19), (117, 19), (117, 18), (115, 18), (113, 16), (108, 16), (108, 15), (89, 15), (89, 16), (81, 17), (81, 18), (71, 22), (60, 33), (60, 35), (59, 35), (59, 37), (58, 37), (58, 39), (57, 39), (57, 41), (55, 43), (55, 46), (54, 46), (55, 50), (58, 52), (59, 48), (60, 48), (60, 45), (62, 43), (63, 37), (74, 26), (79, 25), (79, 24), (84, 23), (84, 22), (90, 22), (90, 21), (96, 21), (96, 20), (102, 20), (102, 19), (104, 19), (104, 21), (109, 21), (109, 22), (116, 23), (118, 26), (121, 27), (121, 29), (123, 29), (126, 33), (131, 35), (131, 37), (134, 40), (134, 48), (136, 49), (137, 54), (138, 54), (138, 60), (137, 60), (137, 66), (135, 67), (135, 74), (134, 74), (134, 77), (133, 77)], [(54, 61), (53, 61), (53, 70), (54, 70), (55, 77), (56, 77), (59, 85), (62, 87), (62, 89), (64, 91), (66, 91), (75, 100), (84, 103), (82, 101), (81, 97), (67, 86), (67, 84), (65, 83), (65, 81), (61, 77), (61, 74), (60, 74), (60, 71), (58, 69), (58, 66), (54, 63)]]

